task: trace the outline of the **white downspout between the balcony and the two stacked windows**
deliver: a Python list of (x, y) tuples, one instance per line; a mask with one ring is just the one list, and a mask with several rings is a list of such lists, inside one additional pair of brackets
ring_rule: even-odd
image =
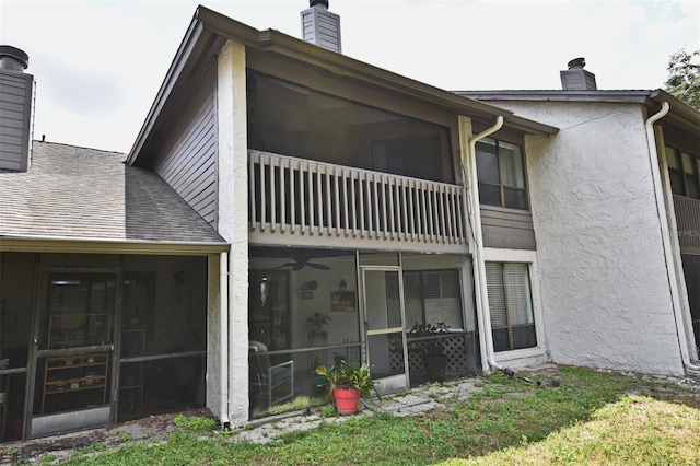
[[(491, 314), (489, 311), (489, 295), (486, 283), (486, 265), (483, 263), (483, 237), (481, 233), (481, 211), (479, 209), (479, 179), (477, 176), (477, 162), (476, 162), (476, 147), (477, 142), (481, 139), (490, 136), (503, 127), (503, 117), (498, 116), (495, 124), (479, 132), (469, 139), (469, 152), (467, 154), (467, 164), (469, 166), (469, 183), (468, 193), (470, 200), (468, 201), (469, 208), (471, 208), (471, 222), (474, 224), (474, 261), (476, 264), (476, 271), (474, 273), (474, 289), (477, 299), (477, 321), (479, 328), (481, 329), (481, 353), (486, 356), (486, 362), (493, 369), (497, 369), (504, 374), (512, 376), (514, 372), (495, 362), (493, 353), (493, 336), (491, 335)], [(463, 165), (464, 165), (463, 161)], [(482, 361), (483, 362), (483, 361)]]

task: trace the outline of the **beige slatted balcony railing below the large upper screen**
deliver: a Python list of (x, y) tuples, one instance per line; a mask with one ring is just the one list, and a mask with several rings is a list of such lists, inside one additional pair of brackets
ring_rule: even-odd
[(465, 245), (465, 189), (249, 151), (254, 234)]

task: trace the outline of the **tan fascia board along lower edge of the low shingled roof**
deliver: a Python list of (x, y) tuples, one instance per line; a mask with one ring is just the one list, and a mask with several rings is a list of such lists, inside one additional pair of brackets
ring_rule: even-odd
[(0, 237), (0, 252), (11, 253), (80, 253), (80, 254), (149, 254), (207, 255), (225, 253), (228, 243), (164, 243), (149, 241), (110, 241), (50, 236)]

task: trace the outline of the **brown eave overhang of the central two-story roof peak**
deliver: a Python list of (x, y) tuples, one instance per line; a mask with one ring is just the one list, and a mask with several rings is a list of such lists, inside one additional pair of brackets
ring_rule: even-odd
[(258, 31), (205, 7), (199, 7), (171, 63), (165, 80), (145, 118), (127, 163), (148, 159), (152, 147), (162, 140), (161, 132), (174, 121), (178, 108), (188, 98), (197, 77), (217, 58), (226, 40), (237, 42), (262, 53), (330, 72), (338, 80), (350, 80), (421, 101), (455, 115), (465, 115), (490, 124), (502, 116), (505, 126), (529, 135), (548, 136), (558, 128), (514, 116), (512, 112), (468, 98), (429, 84), (374, 67), (342, 54), (318, 47), (275, 30)]

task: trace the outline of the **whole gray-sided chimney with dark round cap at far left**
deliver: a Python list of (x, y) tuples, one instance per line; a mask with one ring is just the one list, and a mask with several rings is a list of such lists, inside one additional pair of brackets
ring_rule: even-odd
[(26, 172), (32, 166), (34, 77), (24, 72), (30, 57), (0, 45), (0, 170)]

